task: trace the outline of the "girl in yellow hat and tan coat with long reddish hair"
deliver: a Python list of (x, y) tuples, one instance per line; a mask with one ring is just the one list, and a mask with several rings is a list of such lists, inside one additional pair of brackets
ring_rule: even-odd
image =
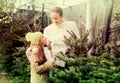
[(47, 46), (51, 50), (50, 44), (46, 42), (41, 32), (28, 32), (25, 38), (30, 42), (30, 47), (26, 50), (31, 67), (30, 83), (48, 83), (48, 70), (54, 66), (56, 61), (55, 57), (46, 60), (44, 55), (43, 47)]

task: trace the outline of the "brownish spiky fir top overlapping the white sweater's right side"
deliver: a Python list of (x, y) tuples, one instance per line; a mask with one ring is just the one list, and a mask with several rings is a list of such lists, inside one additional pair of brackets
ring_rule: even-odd
[(68, 33), (71, 35), (70, 38), (65, 37), (65, 44), (70, 46), (70, 54), (69, 56), (72, 56), (74, 54), (86, 54), (88, 51), (88, 43), (87, 43), (87, 34), (84, 34), (84, 36), (81, 36), (81, 39), (78, 39), (77, 36), (71, 31)]

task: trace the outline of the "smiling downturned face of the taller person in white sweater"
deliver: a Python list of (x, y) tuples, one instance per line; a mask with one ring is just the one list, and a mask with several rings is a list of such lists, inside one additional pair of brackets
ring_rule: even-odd
[(60, 16), (60, 14), (57, 12), (51, 12), (50, 16), (51, 16), (52, 23), (56, 25), (60, 25), (63, 21), (63, 16)]

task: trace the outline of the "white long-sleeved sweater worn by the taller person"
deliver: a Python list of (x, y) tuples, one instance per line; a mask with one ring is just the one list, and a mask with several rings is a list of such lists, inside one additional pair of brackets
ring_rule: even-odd
[(59, 26), (51, 24), (44, 29), (44, 36), (51, 41), (53, 55), (56, 55), (60, 51), (63, 53), (67, 51), (68, 46), (63, 41), (64, 36), (70, 36), (67, 30), (73, 31), (77, 37), (80, 37), (78, 27), (75, 22), (72, 21), (64, 20)]

